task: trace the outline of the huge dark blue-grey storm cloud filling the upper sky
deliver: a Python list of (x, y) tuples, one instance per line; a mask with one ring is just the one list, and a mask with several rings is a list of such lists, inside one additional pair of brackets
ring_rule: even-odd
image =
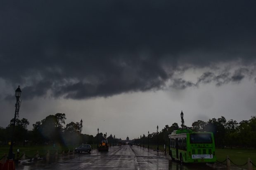
[[(0, 2), (0, 78), (24, 98), (88, 98), (194, 86), (185, 68), (254, 62), (256, 1)], [(199, 77), (239, 82), (248, 72)]]

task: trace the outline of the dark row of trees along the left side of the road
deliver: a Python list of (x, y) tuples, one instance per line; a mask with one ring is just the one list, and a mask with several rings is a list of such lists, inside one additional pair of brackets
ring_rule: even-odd
[[(42, 145), (60, 144), (62, 146), (78, 144), (97, 144), (107, 134), (98, 133), (97, 135), (87, 135), (81, 133), (81, 123), (65, 123), (66, 114), (56, 113), (46, 116), (41, 121), (33, 124), (33, 129), (28, 130), (29, 122), (27, 119), (16, 119), (14, 131), (14, 143), (17, 145)], [(11, 140), (14, 119), (6, 127), (0, 127), (0, 144), (7, 145)], [(120, 139), (112, 135), (107, 137), (109, 142), (116, 144)]]

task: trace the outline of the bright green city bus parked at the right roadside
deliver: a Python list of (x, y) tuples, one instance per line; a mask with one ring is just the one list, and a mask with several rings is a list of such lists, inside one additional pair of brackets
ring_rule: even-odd
[(213, 133), (174, 130), (169, 137), (169, 155), (184, 163), (216, 162)]

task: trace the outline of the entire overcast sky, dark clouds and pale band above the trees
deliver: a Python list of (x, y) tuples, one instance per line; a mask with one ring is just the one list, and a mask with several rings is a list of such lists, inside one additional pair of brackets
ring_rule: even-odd
[(66, 114), (125, 139), (256, 115), (255, 0), (0, 2), (0, 126)]

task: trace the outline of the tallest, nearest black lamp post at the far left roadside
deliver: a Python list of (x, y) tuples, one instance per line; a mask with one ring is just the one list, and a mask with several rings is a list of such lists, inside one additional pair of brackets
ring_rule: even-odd
[(14, 121), (13, 121), (13, 128), (12, 128), (11, 146), (10, 146), (9, 155), (8, 155), (9, 159), (14, 159), (13, 153), (12, 153), (12, 147), (13, 147), (13, 136), (14, 136), (15, 122), (16, 122), (16, 115), (19, 114), (19, 107), (20, 107), (19, 97), (21, 96), (21, 89), (19, 87), (15, 90), (15, 96), (16, 96), (16, 105), (15, 105)]

